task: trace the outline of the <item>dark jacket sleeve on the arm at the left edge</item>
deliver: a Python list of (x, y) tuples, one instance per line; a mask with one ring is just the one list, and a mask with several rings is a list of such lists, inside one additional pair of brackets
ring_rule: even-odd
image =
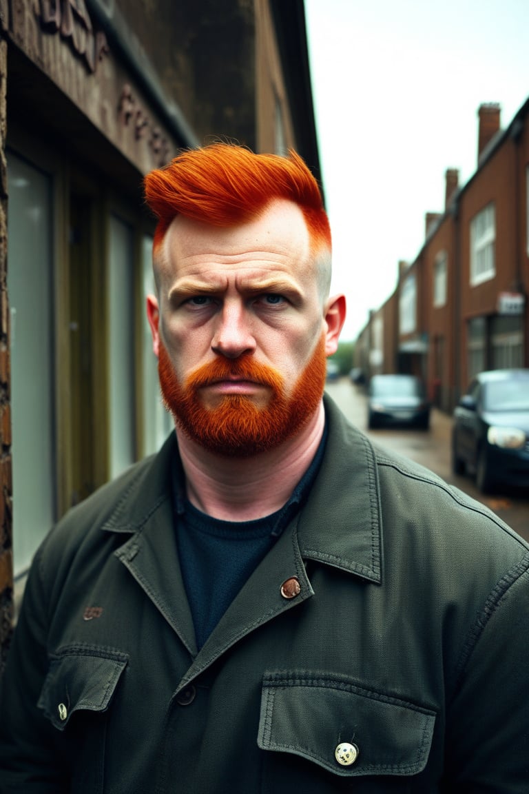
[[(41, 547), (42, 548), (42, 547)], [(0, 794), (66, 794), (54, 729), (37, 708), (48, 670), (48, 599), (37, 552), (0, 683)]]

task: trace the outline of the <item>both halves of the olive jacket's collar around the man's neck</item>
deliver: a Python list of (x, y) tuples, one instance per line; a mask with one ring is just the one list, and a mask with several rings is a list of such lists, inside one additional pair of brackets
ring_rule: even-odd
[[(297, 520), (301, 556), (380, 583), (382, 521), (374, 449), (328, 395), (324, 395), (324, 405), (328, 440), (320, 471)], [(149, 519), (160, 508), (172, 525), (174, 456), (178, 457), (178, 443), (171, 433), (159, 453), (134, 470), (136, 476), (104, 530), (147, 530)]]

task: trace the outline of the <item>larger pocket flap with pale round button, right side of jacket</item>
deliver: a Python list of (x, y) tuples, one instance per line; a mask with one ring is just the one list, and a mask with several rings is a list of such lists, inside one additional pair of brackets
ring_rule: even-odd
[[(270, 673), (263, 679), (258, 745), (293, 753), (343, 777), (413, 775), (427, 762), (435, 711), (341, 676)], [(351, 765), (340, 744), (358, 749)]]

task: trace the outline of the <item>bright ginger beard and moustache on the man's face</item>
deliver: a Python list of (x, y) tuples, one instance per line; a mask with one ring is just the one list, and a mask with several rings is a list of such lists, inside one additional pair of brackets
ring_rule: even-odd
[[(282, 376), (274, 368), (258, 364), (251, 355), (218, 357), (194, 370), (181, 386), (160, 341), (158, 372), (163, 403), (187, 436), (218, 455), (251, 457), (297, 434), (315, 413), (324, 393), (325, 339), (322, 335), (289, 397)], [(229, 376), (266, 386), (270, 391), (266, 406), (259, 407), (247, 395), (223, 395), (217, 407), (205, 407), (201, 387)]]

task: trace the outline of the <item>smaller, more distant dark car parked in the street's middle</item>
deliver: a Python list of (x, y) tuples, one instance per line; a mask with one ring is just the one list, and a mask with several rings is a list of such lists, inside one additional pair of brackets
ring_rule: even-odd
[(424, 384), (413, 375), (374, 375), (367, 399), (367, 426), (412, 425), (427, 430), (430, 404)]

